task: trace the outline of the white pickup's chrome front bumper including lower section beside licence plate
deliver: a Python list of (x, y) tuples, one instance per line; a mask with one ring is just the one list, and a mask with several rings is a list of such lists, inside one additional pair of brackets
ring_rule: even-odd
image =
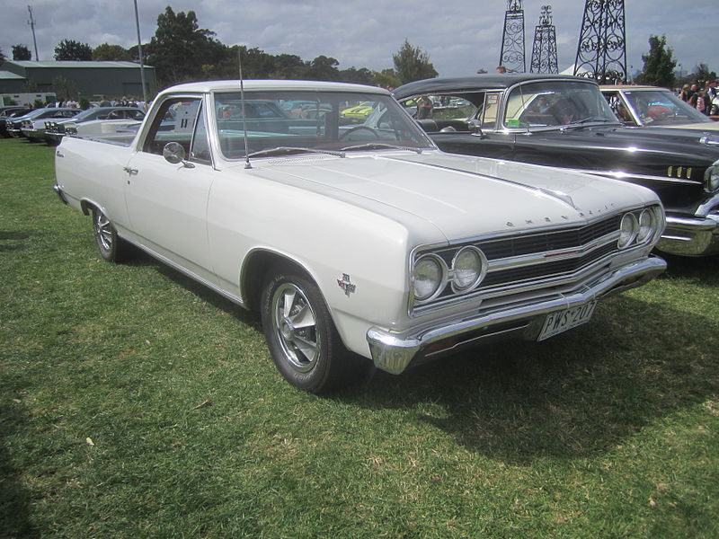
[(572, 293), (442, 323), (418, 333), (412, 330), (398, 333), (373, 327), (367, 332), (369, 349), (377, 368), (398, 375), (411, 365), (439, 358), (488, 338), (513, 336), (536, 340), (547, 314), (640, 287), (660, 275), (666, 267), (667, 263), (661, 258), (650, 257), (621, 266)]

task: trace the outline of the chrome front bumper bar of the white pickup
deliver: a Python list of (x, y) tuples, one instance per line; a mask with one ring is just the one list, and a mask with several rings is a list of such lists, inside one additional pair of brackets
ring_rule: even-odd
[[(377, 368), (398, 375), (431, 343), (450, 337), (461, 336), (470, 331), (483, 330), (493, 326), (519, 320), (532, 320), (553, 311), (583, 305), (589, 301), (616, 294), (623, 290), (644, 285), (660, 275), (667, 267), (661, 258), (648, 258), (626, 264), (608, 275), (601, 276), (587, 287), (540, 301), (537, 304), (521, 305), (491, 314), (480, 314), (473, 318), (449, 321), (420, 332), (412, 329), (403, 332), (386, 331), (372, 327), (367, 331), (367, 341), (372, 359)], [(503, 331), (503, 329), (501, 329)]]

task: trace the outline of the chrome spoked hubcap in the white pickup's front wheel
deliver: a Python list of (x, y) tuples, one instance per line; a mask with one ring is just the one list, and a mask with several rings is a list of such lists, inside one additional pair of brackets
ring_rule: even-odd
[(271, 308), (275, 333), (290, 366), (303, 373), (315, 368), (320, 347), (315, 311), (305, 293), (285, 283), (275, 290)]

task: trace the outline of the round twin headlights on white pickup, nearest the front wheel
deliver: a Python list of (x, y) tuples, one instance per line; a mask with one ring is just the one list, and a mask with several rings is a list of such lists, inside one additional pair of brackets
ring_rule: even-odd
[(455, 294), (474, 290), (487, 274), (487, 257), (474, 246), (462, 247), (448, 265), (435, 253), (423, 254), (413, 265), (414, 299), (431, 301), (449, 285)]

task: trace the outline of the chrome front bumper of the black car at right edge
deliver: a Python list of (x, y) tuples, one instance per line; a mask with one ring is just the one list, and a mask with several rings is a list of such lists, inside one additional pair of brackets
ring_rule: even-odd
[(719, 215), (667, 216), (667, 228), (657, 249), (682, 256), (719, 254)]

